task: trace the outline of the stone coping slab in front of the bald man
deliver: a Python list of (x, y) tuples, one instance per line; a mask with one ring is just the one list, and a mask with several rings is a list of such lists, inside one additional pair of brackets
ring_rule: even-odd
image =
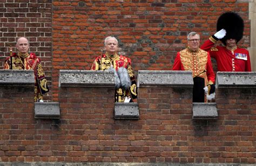
[(32, 70), (0, 70), (1, 86), (35, 86)]

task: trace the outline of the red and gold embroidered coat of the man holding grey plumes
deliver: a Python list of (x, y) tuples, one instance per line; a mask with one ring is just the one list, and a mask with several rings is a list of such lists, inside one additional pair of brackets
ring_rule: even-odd
[(90, 70), (107, 70), (113, 66), (113, 68), (117, 71), (118, 68), (124, 67), (127, 69), (130, 79), (131, 79), (131, 86), (129, 90), (124, 91), (124, 89), (119, 88), (116, 89), (115, 93), (115, 102), (124, 102), (126, 96), (130, 96), (131, 99), (137, 98), (137, 84), (134, 78), (134, 72), (131, 65), (131, 59), (126, 58), (125, 56), (118, 55), (118, 54), (102, 54), (102, 56), (96, 57), (95, 61), (91, 66)]

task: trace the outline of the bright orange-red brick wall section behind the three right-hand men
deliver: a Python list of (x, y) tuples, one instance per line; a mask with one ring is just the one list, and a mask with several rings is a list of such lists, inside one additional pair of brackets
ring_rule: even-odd
[(119, 40), (120, 52), (132, 59), (135, 71), (171, 70), (177, 51), (186, 47), (190, 31), (199, 32), (203, 42), (215, 32), (221, 13), (235, 11), (245, 20), (241, 46), (250, 46), (245, 1), (53, 1), (52, 4), (53, 100), (58, 100), (58, 71), (89, 70), (93, 59), (102, 53), (107, 36)]

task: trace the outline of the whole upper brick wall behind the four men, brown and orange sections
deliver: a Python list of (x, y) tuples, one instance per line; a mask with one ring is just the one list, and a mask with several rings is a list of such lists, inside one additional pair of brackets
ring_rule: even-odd
[(240, 43), (250, 46), (248, 2), (244, 1), (3, 0), (0, 11), (0, 68), (8, 47), (15, 46), (18, 37), (28, 37), (30, 51), (41, 57), (50, 85), (46, 100), (58, 100), (59, 69), (89, 70), (106, 36), (119, 40), (120, 51), (132, 59), (136, 74), (171, 70), (177, 51), (186, 47), (187, 33), (197, 31), (204, 41), (214, 33), (224, 11), (239, 12), (244, 18)]

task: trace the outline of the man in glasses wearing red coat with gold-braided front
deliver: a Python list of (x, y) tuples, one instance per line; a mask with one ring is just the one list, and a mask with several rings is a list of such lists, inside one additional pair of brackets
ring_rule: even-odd
[(193, 74), (193, 102), (206, 102), (204, 87), (208, 91), (215, 91), (215, 75), (212, 68), (210, 54), (199, 49), (200, 36), (197, 32), (187, 35), (188, 47), (177, 53), (172, 70), (192, 71)]

